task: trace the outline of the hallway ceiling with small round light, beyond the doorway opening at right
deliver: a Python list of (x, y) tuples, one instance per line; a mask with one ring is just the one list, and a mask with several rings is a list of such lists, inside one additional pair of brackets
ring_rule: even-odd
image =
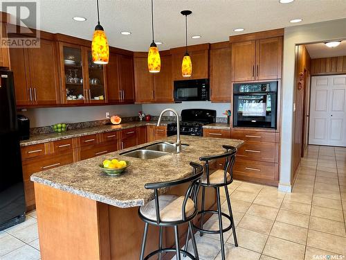
[(305, 46), (307, 47), (307, 51), (312, 59), (346, 56), (346, 40), (334, 48), (329, 48), (325, 46), (324, 43), (307, 44)]

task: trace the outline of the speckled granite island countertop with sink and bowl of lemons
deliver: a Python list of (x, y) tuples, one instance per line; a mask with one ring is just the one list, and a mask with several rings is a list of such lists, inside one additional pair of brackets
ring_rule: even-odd
[[(163, 140), (174, 142), (175, 138), (173, 136)], [(34, 173), (30, 180), (108, 205), (121, 208), (137, 207), (145, 205), (154, 198), (154, 192), (144, 188), (146, 183), (187, 177), (192, 173), (190, 162), (199, 162), (199, 157), (203, 155), (223, 153), (222, 145), (224, 144), (238, 147), (244, 143), (244, 141), (237, 139), (191, 136), (182, 136), (181, 141), (189, 146), (178, 154), (168, 154), (156, 159), (137, 159), (119, 155), (127, 150), (134, 150), (157, 142), (153, 141)], [(105, 175), (98, 168), (98, 164), (101, 164), (104, 159), (113, 158), (131, 161), (131, 166), (119, 177)]]

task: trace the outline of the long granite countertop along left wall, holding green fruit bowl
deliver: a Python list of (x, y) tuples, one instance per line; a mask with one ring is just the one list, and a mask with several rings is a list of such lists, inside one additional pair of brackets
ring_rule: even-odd
[[(120, 125), (100, 125), (92, 128), (80, 128), (75, 130), (67, 130), (62, 133), (50, 133), (41, 135), (31, 135), (30, 139), (20, 142), (21, 146), (31, 146), (33, 144), (47, 143), (48, 141), (57, 141), (62, 139), (69, 139), (73, 137), (82, 137), (84, 135), (93, 135), (100, 132), (111, 132), (114, 130), (122, 130), (127, 128), (136, 128), (143, 125), (156, 125), (157, 121), (134, 121), (128, 123), (120, 123)], [(161, 125), (167, 125), (170, 122), (161, 122)]]

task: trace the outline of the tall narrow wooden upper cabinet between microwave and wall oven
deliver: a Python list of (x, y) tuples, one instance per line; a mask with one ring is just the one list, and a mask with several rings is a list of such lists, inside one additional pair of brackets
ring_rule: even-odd
[(210, 44), (210, 101), (230, 102), (232, 96), (230, 43)]

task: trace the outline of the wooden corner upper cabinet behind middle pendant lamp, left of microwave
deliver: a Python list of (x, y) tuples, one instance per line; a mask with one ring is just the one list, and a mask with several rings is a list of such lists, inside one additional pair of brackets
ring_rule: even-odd
[(169, 51), (161, 51), (161, 71), (149, 73), (147, 53), (135, 53), (134, 73), (136, 103), (172, 103), (172, 57)]

